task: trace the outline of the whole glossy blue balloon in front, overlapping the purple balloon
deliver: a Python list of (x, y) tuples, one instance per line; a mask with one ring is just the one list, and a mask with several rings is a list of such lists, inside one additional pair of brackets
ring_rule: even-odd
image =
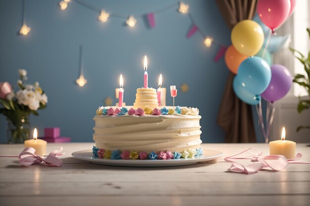
[(267, 88), (271, 80), (271, 69), (265, 60), (254, 56), (240, 64), (237, 75), (247, 91), (258, 95)]

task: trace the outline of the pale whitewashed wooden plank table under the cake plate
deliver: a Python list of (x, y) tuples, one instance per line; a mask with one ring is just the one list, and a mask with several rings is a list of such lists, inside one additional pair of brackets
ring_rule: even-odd
[[(17, 158), (0, 158), (0, 205), (22, 206), (303, 206), (310, 204), (310, 165), (288, 165), (278, 172), (228, 172), (230, 163), (135, 168), (93, 165), (71, 157), (93, 143), (63, 146), (63, 165), (19, 165)], [(310, 147), (297, 144), (302, 161)], [(203, 144), (224, 157), (255, 147), (268, 155), (267, 144)], [(0, 154), (16, 155), (23, 145), (0, 145)]]

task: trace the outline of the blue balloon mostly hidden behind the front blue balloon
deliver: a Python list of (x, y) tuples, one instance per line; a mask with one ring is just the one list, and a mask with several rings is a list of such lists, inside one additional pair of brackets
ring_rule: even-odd
[(244, 86), (242, 86), (242, 83), (238, 79), (238, 75), (235, 76), (233, 81), (233, 88), (235, 91), (235, 94), (239, 99), (244, 101), (247, 104), (256, 105), (259, 103), (259, 101), (256, 100), (256, 96), (254, 94), (251, 94), (248, 92)]

